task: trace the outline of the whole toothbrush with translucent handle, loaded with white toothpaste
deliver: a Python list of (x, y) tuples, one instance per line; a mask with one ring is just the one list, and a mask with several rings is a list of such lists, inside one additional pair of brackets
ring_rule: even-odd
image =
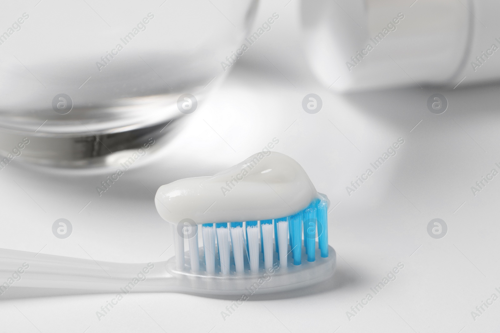
[(286, 155), (263, 151), (212, 177), (163, 185), (155, 205), (172, 227), (174, 257), (123, 264), (0, 249), (5, 281), (0, 298), (11, 287), (70, 293), (273, 293), (333, 275), (329, 201)]

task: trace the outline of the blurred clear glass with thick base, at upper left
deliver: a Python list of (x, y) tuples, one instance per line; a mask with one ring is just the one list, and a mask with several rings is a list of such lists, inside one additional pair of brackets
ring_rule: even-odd
[(28, 138), (21, 160), (101, 165), (164, 135), (227, 73), (257, 2), (4, 3), (1, 155)]

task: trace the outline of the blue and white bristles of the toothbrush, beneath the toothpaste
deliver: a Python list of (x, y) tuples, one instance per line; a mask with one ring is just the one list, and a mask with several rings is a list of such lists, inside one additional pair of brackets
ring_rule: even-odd
[[(261, 269), (260, 261), (263, 261), (265, 270), (272, 269), (274, 258), (279, 263), (279, 268), (286, 270), (290, 253), (292, 257), (290, 262), (294, 266), (299, 266), (302, 264), (302, 246), (307, 262), (316, 261), (316, 248), (319, 249), (320, 257), (328, 257), (327, 208), (326, 200), (314, 199), (302, 211), (274, 220), (246, 221), (244, 224), (243, 222), (202, 224), (205, 273), (215, 275), (218, 272), (216, 264), (219, 263), (221, 275), (232, 274), (231, 253), (234, 260), (232, 270), (238, 275), (244, 274), (248, 268), (251, 274), (258, 274)], [(184, 228), (187, 228), (188, 235), (194, 235), (188, 238), (190, 270), (192, 273), (199, 273), (202, 271), (197, 237), (199, 228), (196, 225)], [(175, 228), (172, 231), (175, 267), (177, 270), (184, 270), (184, 238)], [(218, 252), (218, 262), (215, 251)], [(245, 268), (245, 265), (248, 266)]]

